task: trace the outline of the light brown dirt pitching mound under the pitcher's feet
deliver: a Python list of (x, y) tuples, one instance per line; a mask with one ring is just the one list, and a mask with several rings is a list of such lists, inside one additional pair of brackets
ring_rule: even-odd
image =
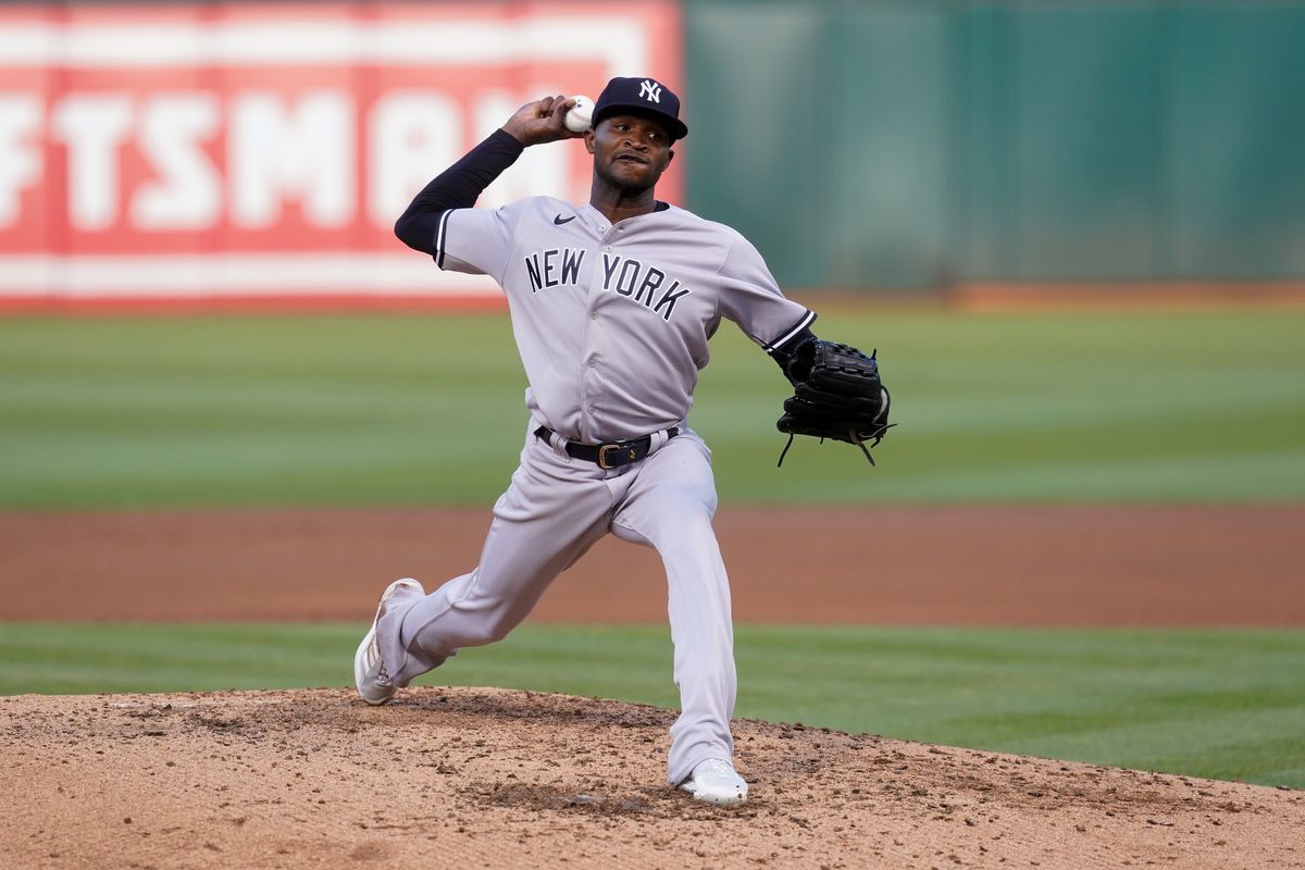
[(736, 723), (743, 807), (654, 707), (491, 689), (0, 699), (7, 867), (1305, 866), (1305, 793)]

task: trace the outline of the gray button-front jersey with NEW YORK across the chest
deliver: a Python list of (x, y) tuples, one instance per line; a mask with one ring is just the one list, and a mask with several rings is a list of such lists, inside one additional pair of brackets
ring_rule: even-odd
[(616, 226), (552, 197), (455, 209), (435, 258), (499, 282), (527, 407), (587, 443), (683, 424), (722, 317), (767, 350), (816, 318), (780, 293), (746, 239), (675, 206)]

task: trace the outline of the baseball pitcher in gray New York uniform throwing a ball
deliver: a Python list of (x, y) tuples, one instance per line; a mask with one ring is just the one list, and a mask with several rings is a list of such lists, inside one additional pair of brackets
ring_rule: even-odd
[[(470, 574), (427, 593), (392, 583), (355, 656), (361, 698), (397, 689), (462, 647), (508, 635), (548, 584), (608, 532), (656, 549), (666, 566), (675, 682), (668, 780), (696, 798), (741, 803), (733, 768), (729, 583), (711, 519), (711, 454), (688, 425), (707, 340), (736, 323), (795, 387), (779, 429), (857, 443), (887, 428), (873, 357), (821, 342), (816, 314), (786, 299), (733, 230), (660, 202), (658, 179), (688, 127), (652, 78), (613, 78), (592, 127), (568, 129), (574, 99), (522, 106), (431, 181), (395, 233), (440, 269), (493, 277), (508, 297), (530, 387), (521, 463), (493, 509)], [(530, 197), (474, 209), (526, 147), (582, 138), (590, 200)], [(786, 447), (787, 450), (787, 447)], [(867, 457), (869, 453), (867, 451)]]

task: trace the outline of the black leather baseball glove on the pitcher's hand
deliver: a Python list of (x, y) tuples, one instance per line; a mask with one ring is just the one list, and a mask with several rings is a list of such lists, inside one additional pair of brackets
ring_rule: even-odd
[(850, 344), (810, 337), (793, 348), (784, 374), (793, 395), (784, 399), (784, 416), (775, 424), (788, 433), (779, 464), (793, 445), (793, 436), (813, 436), (823, 441), (855, 443), (874, 464), (867, 449), (883, 440), (889, 423), (889, 391), (880, 380), (874, 353), (867, 356)]

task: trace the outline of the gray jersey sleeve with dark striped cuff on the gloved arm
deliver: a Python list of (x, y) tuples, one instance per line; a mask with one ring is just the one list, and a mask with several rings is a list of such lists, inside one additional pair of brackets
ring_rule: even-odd
[(761, 253), (743, 236), (729, 240), (720, 282), (720, 313), (767, 353), (787, 346), (816, 321), (816, 312), (784, 297)]

